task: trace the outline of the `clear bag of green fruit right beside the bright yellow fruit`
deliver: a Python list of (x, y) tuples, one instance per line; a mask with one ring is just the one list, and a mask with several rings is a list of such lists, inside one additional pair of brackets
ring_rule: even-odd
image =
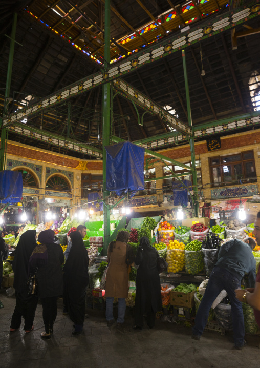
[(203, 271), (203, 253), (201, 251), (201, 241), (192, 240), (185, 247), (185, 272), (188, 274), (198, 274)]

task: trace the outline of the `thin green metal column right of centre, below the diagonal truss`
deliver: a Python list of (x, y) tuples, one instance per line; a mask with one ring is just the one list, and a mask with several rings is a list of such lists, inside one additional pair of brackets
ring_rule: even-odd
[[(188, 122), (189, 122), (189, 126), (192, 129), (192, 117), (191, 117), (190, 98), (189, 98), (189, 82), (188, 82), (188, 74), (187, 74), (187, 68), (186, 68), (185, 50), (182, 50), (182, 62), (183, 62), (183, 71), (184, 71), (184, 80), (185, 80)], [(198, 217), (198, 213), (199, 213), (198, 181), (197, 181), (197, 171), (196, 171), (196, 165), (195, 165), (195, 147), (194, 147), (193, 129), (192, 129), (192, 135), (189, 138), (189, 146), (190, 146), (190, 154), (191, 154), (191, 165), (193, 168), (192, 179), (193, 179), (194, 216)]]

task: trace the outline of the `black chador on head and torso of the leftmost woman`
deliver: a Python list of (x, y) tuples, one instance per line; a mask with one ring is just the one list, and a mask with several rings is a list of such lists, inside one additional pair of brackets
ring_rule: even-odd
[(13, 261), (13, 287), (17, 292), (20, 293), (26, 290), (26, 283), (28, 281), (29, 259), (33, 250), (37, 246), (35, 237), (36, 230), (27, 230), (24, 234), (21, 234), (15, 250)]

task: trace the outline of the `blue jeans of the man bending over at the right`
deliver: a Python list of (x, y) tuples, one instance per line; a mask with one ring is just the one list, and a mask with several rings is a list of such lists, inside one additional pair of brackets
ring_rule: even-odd
[(235, 297), (235, 289), (241, 288), (241, 280), (226, 269), (214, 267), (208, 280), (205, 294), (202, 298), (195, 318), (195, 325), (192, 329), (193, 335), (201, 336), (207, 324), (209, 310), (215, 298), (224, 289), (226, 290), (230, 302), (233, 321), (234, 343), (236, 346), (244, 345), (245, 326), (242, 304)]

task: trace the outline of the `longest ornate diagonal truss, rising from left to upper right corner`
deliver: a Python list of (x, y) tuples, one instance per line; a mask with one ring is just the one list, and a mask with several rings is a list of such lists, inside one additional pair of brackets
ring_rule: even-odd
[(171, 53), (183, 50), (195, 43), (202, 42), (204, 39), (214, 37), (221, 32), (225, 32), (239, 24), (243, 24), (249, 21), (249, 19), (260, 15), (258, 5), (259, 2), (257, 1), (248, 2), (246, 6), (237, 8), (235, 11), (227, 12), (223, 16), (220, 15), (211, 21), (205, 20), (205, 22), (199, 25), (196, 30), (194, 30), (194, 28), (189, 29), (182, 34), (174, 35), (168, 39), (162, 40), (160, 43), (153, 44), (152, 46), (147, 47), (144, 51), (131, 55), (127, 59), (123, 59), (116, 65), (110, 65), (107, 67), (106, 71), (100, 70), (93, 75), (82, 78), (63, 89), (42, 98), (29, 108), (26, 107), (18, 112), (10, 114), (4, 118), (3, 125), (5, 126), (10, 122), (19, 121), (26, 116), (34, 115), (39, 111), (64, 102), (73, 96), (89, 91), (102, 84), (106, 84), (120, 76), (142, 68), (147, 64), (156, 62)]

